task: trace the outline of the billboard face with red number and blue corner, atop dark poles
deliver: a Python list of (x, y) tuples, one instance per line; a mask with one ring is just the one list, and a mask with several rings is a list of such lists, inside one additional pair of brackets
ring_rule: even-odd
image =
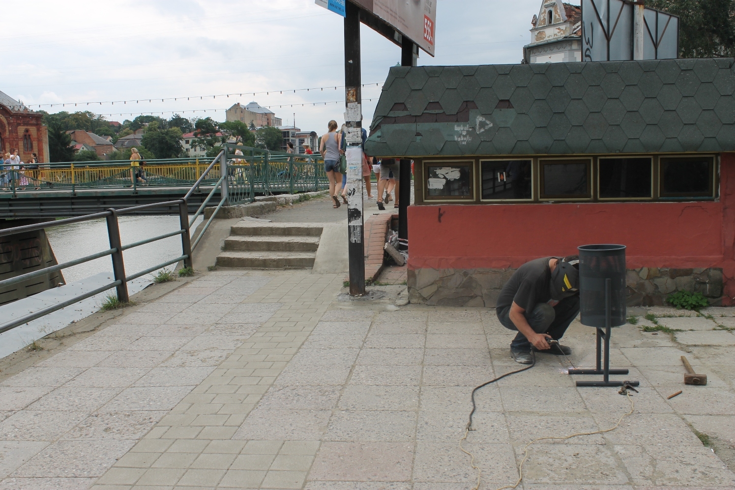
[[(434, 56), (434, 25), (437, 20), (437, 0), (349, 0), (372, 12), (401, 35)], [(315, 0), (315, 4), (332, 12), (344, 14), (345, 0)], [(340, 5), (341, 4), (341, 5)], [(340, 7), (342, 11), (340, 12)]]

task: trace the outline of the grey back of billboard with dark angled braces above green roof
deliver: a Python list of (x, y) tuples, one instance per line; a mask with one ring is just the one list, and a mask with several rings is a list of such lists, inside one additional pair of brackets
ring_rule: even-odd
[[(633, 60), (634, 10), (625, 0), (581, 0), (582, 61)], [(643, 59), (678, 55), (679, 18), (645, 7)]]

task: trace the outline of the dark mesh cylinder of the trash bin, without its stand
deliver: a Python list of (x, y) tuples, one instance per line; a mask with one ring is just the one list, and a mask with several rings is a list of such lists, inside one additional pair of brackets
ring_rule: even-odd
[(610, 326), (625, 325), (625, 245), (582, 245), (577, 249), (582, 325), (607, 326), (606, 279), (610, 279)]

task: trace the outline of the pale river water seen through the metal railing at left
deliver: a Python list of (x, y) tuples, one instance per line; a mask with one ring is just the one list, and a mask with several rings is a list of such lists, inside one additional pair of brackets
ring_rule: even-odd
[[(179, 229), (178, 216), (123, 216), (118, 218), (120, 227), (120, 237), (123, 245), (140, 240), (157, 237), (162, 234), (170, 233)], [(194, 223), (192, 230), (201, 223), (199, 217)], [(69, 262), (74, 259), (80, 259), (83, 256), (92, 255), (96, 252), (106, 251), (110, 249), (110, 241), (107, 237), (107, 224), (104, 218), (101, 220), (87, 221), (85, 223), (74, 223), (71, 225), (57, 226), (46, 229), (46, 234), (51, 243), (51, 249), (56, 255), (57, 262)], [(162, 262), (176, 259), (182, 255), (181, 236), (176, 235), (157, 242), (140, 245), (140, 247), (130, 248), (123, 252), (123, 261), (125, 264), (126, 275), (133, 275), (141, 270), (154, 267)], [(173, 270), (175, 264), (169, 265), (168, 270)], [(69, 290), (78, 291), (73, 295), (96, 289), (104, 284), (110, 284), (112, 279), (112, 260), (110, 256), (102, 257), (84, 264), (62, 270), (64, 279), (69, 285)], [(130, 295), (141, 291), (143, 288), (151, 284), (154, 273), (143, 275), (128, 283), (128, 291)], [(65, 292), (64, 287), (59, 289), (49, 289), (47, 292), (40, 293), (46, 300), (50, 300), (51, 304), (60, 303)], [(56, 293), (59, 293), (56, 295)], [(64, 309), (54, 311), (45, 317), (26, 323), (10, 331), (0, 334), (0, 358), (8, 356), (19, 350), (31, 342), (42, 338), (54, 331), (64, 328), (66, 325), (82, 318), (88, 317), (90, 314), (98, 311), (105, 297), (115, 294), (115, 289), (101, 292), (79, 303), (67, 306)], [(54, 295), (57, 298), (54, 298)], [(68, 298), (68, 297), (67, 297)], [(24, 314), (38, 309), (37, 303), (24, 310), (24, 300), (10, 305), (3, 306), (4, 309), (18, 309), (12, 314), (12, 317), (22, 317)], [(21, 311), (23, 310), (23, 311)], [(7, 311), (10, 315), (10, 310)]]

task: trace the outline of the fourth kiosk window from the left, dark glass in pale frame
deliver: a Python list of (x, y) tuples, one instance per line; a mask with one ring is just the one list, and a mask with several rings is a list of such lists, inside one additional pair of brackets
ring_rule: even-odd
[(600, 158), (600, 198), (650, 198), (653, 162), (650, 158)]

